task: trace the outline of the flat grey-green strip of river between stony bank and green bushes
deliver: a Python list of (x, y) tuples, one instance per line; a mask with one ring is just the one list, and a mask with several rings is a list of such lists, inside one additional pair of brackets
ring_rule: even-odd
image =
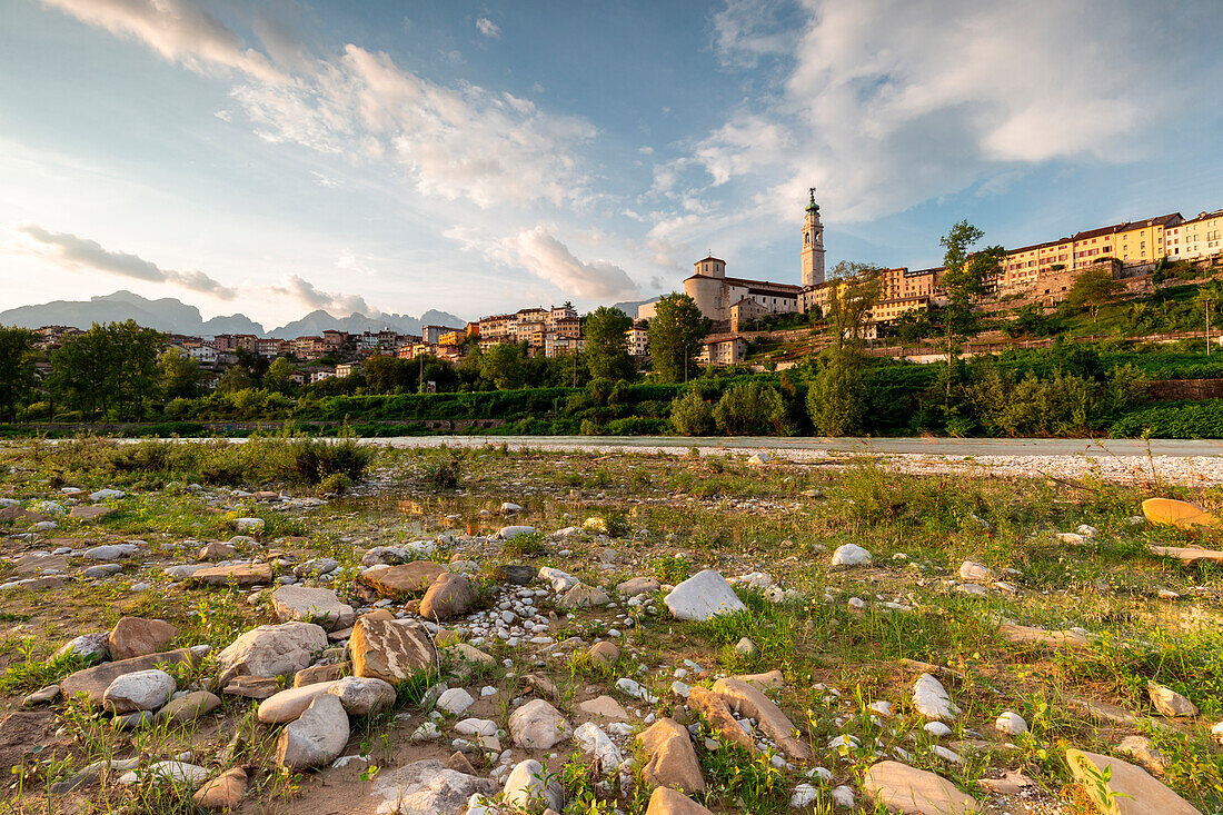
[(678, 436), (407, 436), (368, 439), (391, 447), (509, 444), (545, 449), (805, 450), (884, 455), (1130, 458), (1147, 455), (1199, 458), (1223, 455), (1223, 439), (1090, 439), (1090, 438), (786, 438)]

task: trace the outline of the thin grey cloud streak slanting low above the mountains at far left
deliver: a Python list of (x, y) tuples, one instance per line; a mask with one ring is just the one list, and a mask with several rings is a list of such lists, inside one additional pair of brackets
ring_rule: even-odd
[(13, 229), (23, 240), (9, 247), (9, 251), (33, 255), (64, 269), (117, 274), (149, 283), (170, 283), (223, 300), (232, 300), (237, 296), (234, 289), (197, 269), (182, 272), (163, 269), (157, 263), (146, 261), (138, 255), (114, 252), (103, 247), (98, 241), (68, 233), (53, 233), (38, 224), (22, 223)]

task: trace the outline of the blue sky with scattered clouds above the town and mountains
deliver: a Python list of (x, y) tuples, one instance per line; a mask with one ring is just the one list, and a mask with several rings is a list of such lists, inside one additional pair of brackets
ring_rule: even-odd
[(1223, 208), (1217, 0), (5, 0), (0, 308), (468, 319)]

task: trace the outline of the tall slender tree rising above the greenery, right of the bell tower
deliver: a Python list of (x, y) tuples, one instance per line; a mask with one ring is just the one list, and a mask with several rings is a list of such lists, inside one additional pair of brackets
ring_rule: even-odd
[(986, 294), (986, 283), (999, 272), (1007, 251), (1002, 246), (974, 252), (985, 233), (966, 220), (954, 224), (939, 242), (947, 250), (943, 255), (943, 289), (947, 306), (942, 311), (943, 351), (947, 354), (947, 392), (943, 396), (943, 414), (951, 406), (951, 377), (960, 343), (977, 334), (980, 321), (972, 302)]

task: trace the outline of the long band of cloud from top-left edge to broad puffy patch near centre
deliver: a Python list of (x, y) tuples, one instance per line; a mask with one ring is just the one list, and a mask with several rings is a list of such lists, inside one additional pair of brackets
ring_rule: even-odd
[(236, 71), (231, 97), (269, 142), (389, 162), (424, 195), (481, 207), (591, 197), (578, 149), (596, 131), (583, 119), (470, 83), (444, 87), (352, 44), (311, 58), (265, 16), (254, 27), (284, 69), (191, 0), (44, 1), (192, 70)]

